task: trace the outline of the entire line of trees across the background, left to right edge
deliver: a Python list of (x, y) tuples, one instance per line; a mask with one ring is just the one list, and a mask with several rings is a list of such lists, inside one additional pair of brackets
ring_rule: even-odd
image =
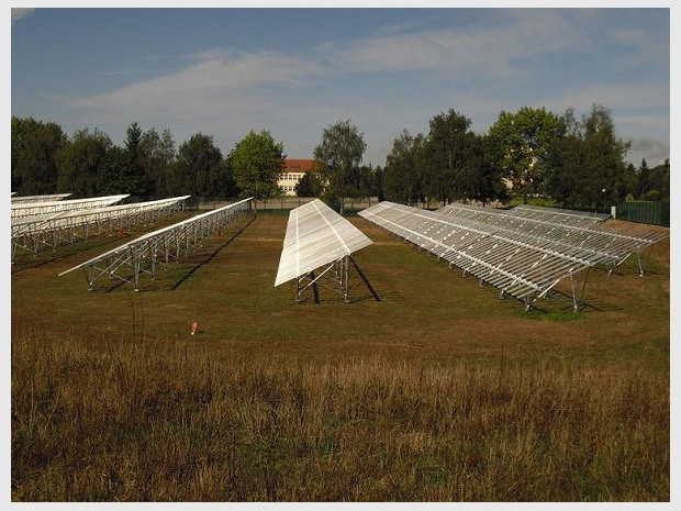
[[(502, 111), (484, 134), (449, 109), (432, 118), (427, 134), (403, 130), (384, 168), (360, 165), (364, 134), (351, 121), (327, 126), (313, 149), (316, 173), (298, 184), (299, 196), (321, 197), (343, 212), (343, 199), (377, 197), (437, 205), (451, 201), (527, 202), (606, 210), (627, 198), (669, 201), (669, 160), (648, 168), (627, 164), (610, 111), (594, 104), (577, 119), (524, 107)], [(74, 198), (130, 193), (141, 198), (256, 197), (282, 191), (283, 145), (268, 131), (250, 131), (227, 155), (213, 137), (192, 135), (176, 148), (169, 130), (143, 131), (133, 122), (122, 146), (88, 129), (67, 136), (54, 122), (12, 116), (11, 186), (20, 195), (70, 192)]]

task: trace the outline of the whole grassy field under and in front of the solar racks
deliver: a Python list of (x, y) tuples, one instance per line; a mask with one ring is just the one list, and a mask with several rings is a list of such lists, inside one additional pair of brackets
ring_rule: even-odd
[(273, 287), (287, 218), (139, 292), (57, 277), (121, 238), (18, 257), (12, 500), (669, 501), (669, 238), (524, 312), (355, 216), (381, 300), (314, 304)]

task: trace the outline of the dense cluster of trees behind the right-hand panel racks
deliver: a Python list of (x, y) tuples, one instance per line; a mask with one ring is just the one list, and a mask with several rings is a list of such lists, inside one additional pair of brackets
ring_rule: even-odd
[(387, 198), (402, 203), (512, 196), (550, 200), (567, 209), (605, 211), (628, 199), (669, 200), (669, 160), (649, 169), (627, 164), (630, 143), (616, 136), (610, 111), (594, 104), (577, 119), (542, 108), (502, 111), (485, 134), (448, 110), (429, 120), (427, 134), (395, 138), (383, 170)]

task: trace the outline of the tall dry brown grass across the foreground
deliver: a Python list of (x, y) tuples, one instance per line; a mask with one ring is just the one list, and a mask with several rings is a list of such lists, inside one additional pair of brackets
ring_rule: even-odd
[(12, 343), (15, 500), (668, 500), (669, 382)]

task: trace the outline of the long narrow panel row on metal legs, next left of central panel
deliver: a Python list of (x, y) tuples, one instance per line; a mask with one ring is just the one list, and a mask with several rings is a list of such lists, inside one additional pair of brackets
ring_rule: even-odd
[(100, 277), (108, 277), (130, 282), (138, 291), (142, 275), (155, 278), (158, 264), (167, 267), (171, 260), (186, 257), (201, 241), (215, 236), (252, 211), (253, 197), (143, 234), (59, 276), (82, 269), (89, 290), (94, 289)]

